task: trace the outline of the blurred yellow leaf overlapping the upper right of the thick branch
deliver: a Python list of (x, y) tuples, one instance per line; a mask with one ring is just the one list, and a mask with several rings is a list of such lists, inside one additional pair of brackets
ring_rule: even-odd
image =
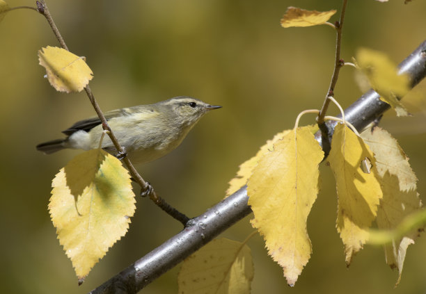
[(392, 106), (398, 116), (409, 115), (398, 99), (410, 90), (409, 76), (398, 74), (395, 63), (380, 51), (359, 49), (356, 60), (372, 88), (381, 96), (380, 99)]

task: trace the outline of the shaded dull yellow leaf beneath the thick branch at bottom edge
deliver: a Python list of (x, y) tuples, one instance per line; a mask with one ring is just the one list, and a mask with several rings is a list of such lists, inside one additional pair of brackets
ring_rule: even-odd
[(189, 256), (178, 276), (178, 293), (250, 293), (254, 270), (250, 248), (226, 238), (212, 240)]

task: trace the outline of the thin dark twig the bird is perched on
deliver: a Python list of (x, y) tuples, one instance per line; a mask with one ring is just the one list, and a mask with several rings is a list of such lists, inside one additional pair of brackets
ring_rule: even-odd
[[(61, 47), (67, 51), (70, 51), (68, 50), (68, 47), (65, 44), (65, 40), (63, 40), (61, 33), (59, 33), (59, 30), (56, 27), (56, 24), (54, 23), (52, 15), (50, 15), (49, 8), (47, 8), (45, 0), (36, 1), (36, 4), (37, 4), (37, 11), (45, 16), (45, 18), (47, 19), (47, 22), (49, 22), (49, 25), (56, 36), (56, 39), (58, 40), (59, 44), (61, 44)], [(129, 160), (127, 156), (125, 156), (126, 155), (125, 148), (120, 145), (120, 142), (118, 142), (116, 135), (111, 130), (111, 127), (109, 126), (107, 119), (104, 116), (104, 113), (102, 113), (99, 104), (97, 104), (97, 101), (95, 99), (95, 96), (92, 93), (92, 90), (90, 90), (90, 87), (88, 85), (86, 85), (84, 90), (86, 91), (88, 99), (90, 100), (90, 103), (95, 109), (97, 116), (100, 118), (100, 121), (102, 123), (102, 128), (105, 131), (107, 131), (107, 134), (109, 138), (111, 139), (111, 142), (113, 143), (114, 147), (116, 147), (118, 154), (123, 155), (123, 161), (125, 165), (127, 166), (127, 168), (129, 169), (129, 172), (132, 178), (134, 179), (134, 181), (136, 181), (136, 183), (138, 183), (139, 186), (141, 186), (142, 190), (145, 191), (147, 195), (149, 195), (152, 202), (157, 204), (157, 206), (159, 206), (163, 211), (166, 211), (166, 213), (168, 213), (173, 218), (175, 218), (175, 220), (179, 220), (180, 222), (182, 222), (182, 224), (185, 226), (187, 222), (189, 221), (189, 218), (187, 217), (187, 215), (180, 213), (177, 209), (174, 209), (171, 205), (169, 205), (166, 201), (164, 201), (164, 199), (159, 197), (157, 193), (155, 193), (155, 190), (152, 188), (152, 186), (150, 186), (150, 183), (145, 181), (141, 177), (139, 172), (136, 171), (136, 168), (134, 168), (134, 165), (132, 164), (132, 162)]]

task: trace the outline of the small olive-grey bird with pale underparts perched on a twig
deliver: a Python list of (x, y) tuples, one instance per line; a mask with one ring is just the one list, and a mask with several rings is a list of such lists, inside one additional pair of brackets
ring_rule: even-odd
[[(178, 147), (198, 120), (216, 108), (221, 106), (180, 96), (156, 104), (109, 111), (105, 117), (130, 160), (147, 163)], [(67, 138), (44, 142), (36, 148), (45, 154), (68, 148), (96, 149), (103, 131), (99, 117), (92, 117), (76, 122), (63, 131)], [(102, 149), (109, 153), (116, 152), (108, 136), (104, 136)]]

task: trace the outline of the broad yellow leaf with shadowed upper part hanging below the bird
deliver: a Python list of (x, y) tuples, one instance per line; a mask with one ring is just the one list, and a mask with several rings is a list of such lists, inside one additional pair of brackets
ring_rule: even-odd
[[(93, 149), (62, 168), (52, 187), (52, 222), (82, 282), (129, 227), (135, 210), (129, 173), (116, 157)], [(81, 195), (73, 195), (73, 191)]]

